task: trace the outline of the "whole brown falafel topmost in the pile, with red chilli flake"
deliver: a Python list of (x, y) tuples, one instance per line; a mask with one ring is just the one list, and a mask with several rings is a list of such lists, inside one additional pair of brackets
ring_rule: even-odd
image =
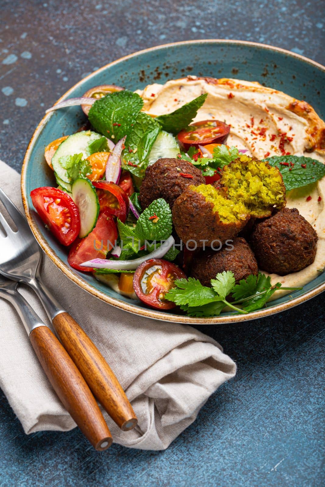
[(162, 158), (148, 166), (140, 187), (142, 209), (147, 208), (154, 200), (164, 198), (172, 209), (178, 196), (189, 185), (205, 183), (200, 169), (183, 159)]

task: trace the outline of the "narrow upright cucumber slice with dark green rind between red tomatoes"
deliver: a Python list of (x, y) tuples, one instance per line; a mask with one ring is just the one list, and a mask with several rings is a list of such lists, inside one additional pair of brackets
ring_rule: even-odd
[(72, 187), (72, 198), (80, 215), (79, 238), (83, 239), (95, 228), (99, 214), (96, 188), (89, 179), (77, 178)]

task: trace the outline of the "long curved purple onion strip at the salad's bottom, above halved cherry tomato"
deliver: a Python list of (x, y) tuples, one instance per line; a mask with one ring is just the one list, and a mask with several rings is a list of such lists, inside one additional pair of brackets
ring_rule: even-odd
[(132, 261), (110, 261), (106, 259), (92, 259), (91, 261), (83, 262), (81, 267), (93, 267), (95, 269), (116, 269), (121, 271), (135, 270), (142, 262), (148, 259), (161, 259), (166, 252), (169, 251), (171, 246), (175, 243), (172, 235), (160, 245), (159, 248), (154, 250), (148, 255), (133, 259)]

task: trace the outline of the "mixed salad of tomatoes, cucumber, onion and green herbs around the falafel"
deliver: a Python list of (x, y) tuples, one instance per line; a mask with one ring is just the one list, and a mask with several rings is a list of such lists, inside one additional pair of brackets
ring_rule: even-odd
[[(254, 311), (281, 288), (261, 273), (235, 282), (233, 272), (223, 271), (211, 280), (211, 287), (187, 279), (194, 253), (179, 244), (170, 205), (156, 198), (141, 207), (139, 188), (145, 171), (158, 159), (188, 161), (201, 171), (206, 184), (214, 184), (222, 168), (246, 152), (224, 145), (230, 130), (225, 122), (191, 125), (206, 97), (202, 94), (155, 118), (141, 111), (138, 94), (113, 86), (96, 87), (84, 97), (58, 103), (50, 111), (81, 105), (89, 129), (60, 137), (45, 148), (57, 184), (31, 192), (42, 221), (60, 244), (69, 246), (73, 268), (98, 279), (115, 275), (122, 293), (131, 295), (134, 290), (153, 308), (177, 306), (179, 312), (199, 317), (219, 315), (225, 306), (236, 313)], [(325, 175), (323, 164), (306, 157), (273, 156), (268, 162), (280, 170), (287, 190)]]

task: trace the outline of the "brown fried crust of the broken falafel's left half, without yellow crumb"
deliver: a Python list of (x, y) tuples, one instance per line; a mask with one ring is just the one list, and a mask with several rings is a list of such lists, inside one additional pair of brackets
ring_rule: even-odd
[(207, 202), (201, 193), (188, 187), (173, 205), (172, 221), (183, 243), (188, 243), (188, 248), (196, 248), (196, 245), (209, 246), (217, 240), (225, 244), (226, 240), (232, 239), (244, 228), (249, 215), (237, 222), (224, 223), (218, 212), (213, 211), (213, 204)]

